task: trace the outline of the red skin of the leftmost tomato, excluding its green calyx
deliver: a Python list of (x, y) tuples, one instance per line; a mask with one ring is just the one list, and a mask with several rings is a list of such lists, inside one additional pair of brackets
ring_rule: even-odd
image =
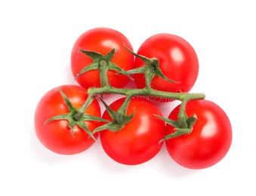
[[(83, 152), (94, 143), (94, 139), (89, 137), (85, 130), (75, 125), (73, 137), (66, 120), (49, 121), (45, 124), (45, 121), (54, 116), (69, 113), (66, 103), (57, 88), (63, 91), (76, 109), (81, 107), (88, 97), (87, 90), (79, 85), (63, 85), (49, 90), (39, 100), (35, 109), (36, 136), (47, 149), (57, 154), (73, 155)], [(97, 100), (91, 103), (85, 113), (100, 117), (100, 105)], [(85, 124), (91, 131), (100, 125), (99, 122), (95, 121), (86, 121)], [(95, 133), (94, 136), (97, 138), (98, 133)]]

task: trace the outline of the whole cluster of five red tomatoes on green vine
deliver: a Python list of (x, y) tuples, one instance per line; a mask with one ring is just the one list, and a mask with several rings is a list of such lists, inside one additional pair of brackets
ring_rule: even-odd
[[(135, 165), (155, 157), (165, 143), (177, 164), (203, 169), (229, 151), (232, 128), (227, 114), (189, 93), (199, 60), (184, 38), (159, 33), (134, 53), (122, 33), (90, 29), (72, 47), (70, 66), (78, 85), (49, 90), (35, 109), (35, 133), (52, 152), (83, 152), (100, 136), (106, 155)], [(125, 88), (130, 80), (136, 89)], [(103, 94), (113, 93), (125, 96), (108, 106)], [(103, 114), (100, 100), (106, 107)], [(153, 100), (181, 103), (165, 118)]]

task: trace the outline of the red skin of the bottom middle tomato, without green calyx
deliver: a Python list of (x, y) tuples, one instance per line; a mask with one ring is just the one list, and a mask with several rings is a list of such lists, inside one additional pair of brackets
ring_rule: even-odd
[[(124, 102), (124, 98), (116, 100), (110, 105), (115, 111)], [(134, 113), (134, 118), (125, 124), (122, 130), (100, 132), (103, 150), (114, 161), (120, 164), (142, 164), (153, 158), (162, 148), (160, 139), (165, 136), (165, 123), (154, 115), (161, 115), (159, 109), (149, 100), (133, 97), (128, 106), (128, 115)], [(103, 118), (111, 121), (105, 111)]]

